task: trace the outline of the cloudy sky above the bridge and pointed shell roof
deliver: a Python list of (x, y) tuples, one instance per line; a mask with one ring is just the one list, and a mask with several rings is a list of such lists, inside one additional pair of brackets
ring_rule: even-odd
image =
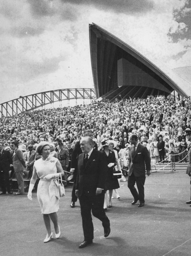
[(170, 69), (191, 66), (189, 0), (1, 0), (0, 103), (93, 87), (92, 22)]

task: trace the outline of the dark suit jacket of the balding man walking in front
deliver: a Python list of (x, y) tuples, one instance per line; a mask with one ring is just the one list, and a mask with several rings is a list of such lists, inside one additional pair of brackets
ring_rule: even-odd
[(86, 166), (84, 166), (85, 154), (78, 156), (78, 172), (76, 190), (78, 197), (83, 195), (95, 196), (96, 189), (105, 189), (105, 172), (107, 159), (103, 152), (93, 149)]

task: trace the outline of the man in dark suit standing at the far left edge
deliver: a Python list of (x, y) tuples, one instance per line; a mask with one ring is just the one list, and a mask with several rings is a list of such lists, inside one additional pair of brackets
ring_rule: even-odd
[(0, 195), (6, 194), (6, 190), (8, 194), (13, 194), (9, 184), (10, 164), (12, 164), (13, 161), (10, 152), (4, 150), (3, 146), (3, 142), (0, 142), (0, 185), (2, 191)]

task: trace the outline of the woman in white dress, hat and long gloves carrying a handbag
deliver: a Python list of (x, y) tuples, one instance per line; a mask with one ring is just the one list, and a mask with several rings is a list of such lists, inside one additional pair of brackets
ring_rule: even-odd
[(54, 224), (56, 238), (60, 237), (60, 227), (58, 226), (57, 211), (59, 210), (60, 193), (56, 178), (63, 176), (64, 172), (61, 163), (57, 158), (50, 156), (50, 144), (43, 141), (36, 147), (36, 152), (42, 158), (34, 162), (33, 176), (29, 185), (27, 197), (32, 200), (32, 190), (36, 182), (37, 175), (40, 178), (37, 188), (37, 198), (43, 214), (47, 235), (44, 243), (52, 238), (51, 222)]

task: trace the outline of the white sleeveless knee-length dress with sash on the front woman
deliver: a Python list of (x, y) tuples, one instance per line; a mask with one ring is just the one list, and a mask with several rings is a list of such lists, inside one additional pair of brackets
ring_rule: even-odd
[(34, 162), (34, 167), (40, 181), (37, 188), (37, 198), (41, 206), (42, 214), (49, 214), (59, 210), (60, 194), (56, 178), (44, 180), (47, 174), (57, 173), (57, 158), (49, 156), (46, 160), (42, 158)]

